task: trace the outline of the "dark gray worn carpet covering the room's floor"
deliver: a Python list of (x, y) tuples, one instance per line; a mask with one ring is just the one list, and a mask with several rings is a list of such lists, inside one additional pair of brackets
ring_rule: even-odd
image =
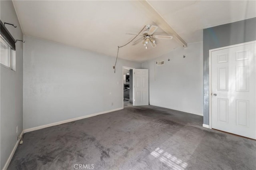
[(123, 110), (28, 132), (9, 170), (255, 170), (256, 141), (161, 107)]

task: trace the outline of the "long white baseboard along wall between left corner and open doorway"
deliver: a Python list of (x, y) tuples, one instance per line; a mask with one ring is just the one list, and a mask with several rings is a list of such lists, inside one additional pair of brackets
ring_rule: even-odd
[(42, 128), (47, 128), (47, 127), (60, 125), (60, 124), (63, 124), (63, 123), (69, 123), (69, 122), (77, 121), (77, 120), (80, 120), (80, 119), (85, 119), (85, 118), (88, 118), (88, 117), (102, 115), (102, 114), (105, 114), (105, 113), (110, 113), (110, 112), (118, 111), (118, 110), (121, 110), (121, 109), (123, 109), (123, 108), (113, 109), (113, 110), (110, 110), (110, 111), (104, 111), (104, 112), (100, 112), (100, 113), (94, 113), (94, 114), (86, 115), (86, 116), (82, 116), (82, 117), (76, 117), (76, 118), (73, 118), (73, 119), (68, 119), (68, 120), (65, 120), (65, 121), (60, 121), (60, 122), (55, 122), (55, 123), (50, 123), (50, 124), (42, 125), (42, 126), (39, 126), (39, 127), (27, 128), (27, 129), (24, 129), (24, 133), (31, 132), (31, 131), (34, 131), (34, 130), (39, 130), (39, 129), (42, 129)]

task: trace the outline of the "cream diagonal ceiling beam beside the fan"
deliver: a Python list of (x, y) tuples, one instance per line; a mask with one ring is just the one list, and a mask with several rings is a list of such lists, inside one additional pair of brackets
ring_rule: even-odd
[(135, 0), (131, 1), (135, 6), (146, 12), (154, 23), (157, 24), (164, 32), (174, 37), (174, 39), (182, 45), (182, 47), (188, 47), (188, 44), (183, 40), (180, 35), (164, 20), (164, 18), (151, 6), (147, 0)]

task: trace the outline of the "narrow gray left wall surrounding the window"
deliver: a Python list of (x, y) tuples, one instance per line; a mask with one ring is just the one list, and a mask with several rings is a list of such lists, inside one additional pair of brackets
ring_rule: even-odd
[[(15, 39), (22, 40), (23, 34), (14, 10), (12, 1), (0, 1), (2, 22), (15, 24), (17, 28), (7, 26), (6, 28)], [(0, 66), (0, 169), (4, 167), (10, 156), (17, 137), (23, 130), (22, 123), (22, 91), (23, 91), (23, 43), (16, 43), (16, 72), (9, 68)], [(18, 133), (16, 133), (18, 126)]]

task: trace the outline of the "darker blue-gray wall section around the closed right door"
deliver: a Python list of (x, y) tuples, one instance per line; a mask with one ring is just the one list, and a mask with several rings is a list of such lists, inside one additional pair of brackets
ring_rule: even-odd
[(209, 125), (209, 49), (256, 40), (256, 18), (204, 29), (204, 124)]

